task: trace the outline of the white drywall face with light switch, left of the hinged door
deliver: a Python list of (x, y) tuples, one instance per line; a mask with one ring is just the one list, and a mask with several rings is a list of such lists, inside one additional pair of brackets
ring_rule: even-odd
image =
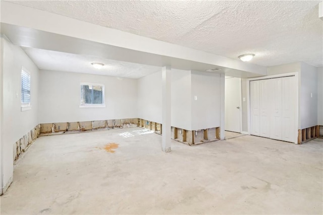
[(192, 71), (191, 79), (192, 130), (220, 127), (221, 81), (225, 79), (198, 71)]

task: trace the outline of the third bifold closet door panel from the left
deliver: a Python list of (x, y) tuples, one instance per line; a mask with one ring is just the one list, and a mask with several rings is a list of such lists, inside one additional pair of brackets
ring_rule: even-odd
[(270, 138), (282, 140), (282, 78), (270, 79), (271, 103), (271, 131)]

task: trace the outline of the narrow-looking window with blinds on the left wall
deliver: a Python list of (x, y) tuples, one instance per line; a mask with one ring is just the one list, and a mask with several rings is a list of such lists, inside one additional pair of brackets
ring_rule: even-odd
[(30, 105), (30, 74), (24, 68), (21, 69), (21, 111), (31, 109)]

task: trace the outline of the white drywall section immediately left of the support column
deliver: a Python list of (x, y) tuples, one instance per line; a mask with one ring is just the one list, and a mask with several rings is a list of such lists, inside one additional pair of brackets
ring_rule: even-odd
[(137, 79), (136, 118), (161, 123), (161, 71)]

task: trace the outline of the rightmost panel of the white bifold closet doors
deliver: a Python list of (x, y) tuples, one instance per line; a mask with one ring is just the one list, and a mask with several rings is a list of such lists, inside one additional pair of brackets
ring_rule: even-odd
[(282, 78), (282, 140), (295, 141), (294, 129), (296, 112), (296, 84), (295, 76)]

